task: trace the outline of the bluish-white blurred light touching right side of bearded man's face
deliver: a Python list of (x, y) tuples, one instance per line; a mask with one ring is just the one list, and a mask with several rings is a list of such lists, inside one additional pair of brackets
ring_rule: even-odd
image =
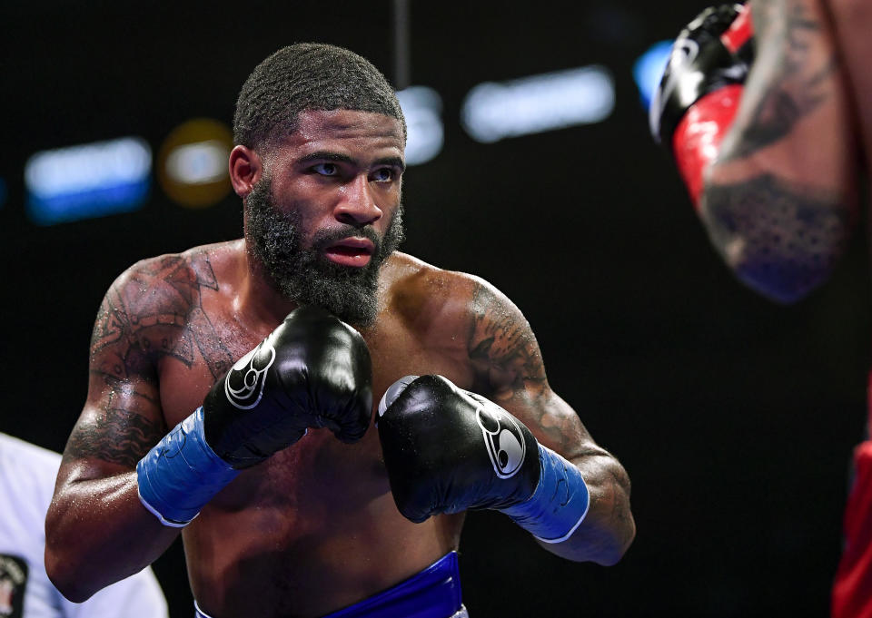
[(427, 86), (410, 86), (397, 93), (406, 117), (406, 163), (420, 165), (431, 161), (445, 141), (442, 126), (442, 99)]

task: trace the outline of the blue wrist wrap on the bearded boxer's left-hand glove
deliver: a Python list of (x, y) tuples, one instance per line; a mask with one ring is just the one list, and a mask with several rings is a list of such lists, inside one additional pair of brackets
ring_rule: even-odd
[(136, 464), (140, 501), (163, 525), (177, 528), (238, 474), (206, 444), (202, 406)]

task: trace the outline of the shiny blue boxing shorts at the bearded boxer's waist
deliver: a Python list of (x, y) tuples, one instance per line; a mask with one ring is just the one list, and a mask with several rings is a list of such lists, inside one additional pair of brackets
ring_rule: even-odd
[[(194, 601), (196, 618), (211, 618)], [(419, 574), (323, 618), (469, 618), (461, 601), (457, 552)]]

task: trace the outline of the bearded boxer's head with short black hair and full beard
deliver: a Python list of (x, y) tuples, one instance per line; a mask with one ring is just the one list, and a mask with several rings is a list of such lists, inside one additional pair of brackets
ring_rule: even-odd
[[(283, 297), (371, 322), (381, 263), (403, 237), (406, 125), (391, 85), (348, 50), (285, 47), (244, 83), (233, 136), (250, 256)], [(365, 265), (349, 244), (367, 244)]]

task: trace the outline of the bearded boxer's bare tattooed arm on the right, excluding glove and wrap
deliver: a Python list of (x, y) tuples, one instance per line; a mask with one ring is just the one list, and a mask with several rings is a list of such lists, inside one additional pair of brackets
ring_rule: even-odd
[(472, 390), (520, 418), (543, 445), (578, 466), (590, 492), (588, 515), (576, 532), (563, 543), (542, 547), (570, 560), (617, 563), (636, 531), (629, 510), (629, 476), (593, 441), (569, 404), (551, 391), (539, 344), (520, 310), (481, 282), (473, 316)]

